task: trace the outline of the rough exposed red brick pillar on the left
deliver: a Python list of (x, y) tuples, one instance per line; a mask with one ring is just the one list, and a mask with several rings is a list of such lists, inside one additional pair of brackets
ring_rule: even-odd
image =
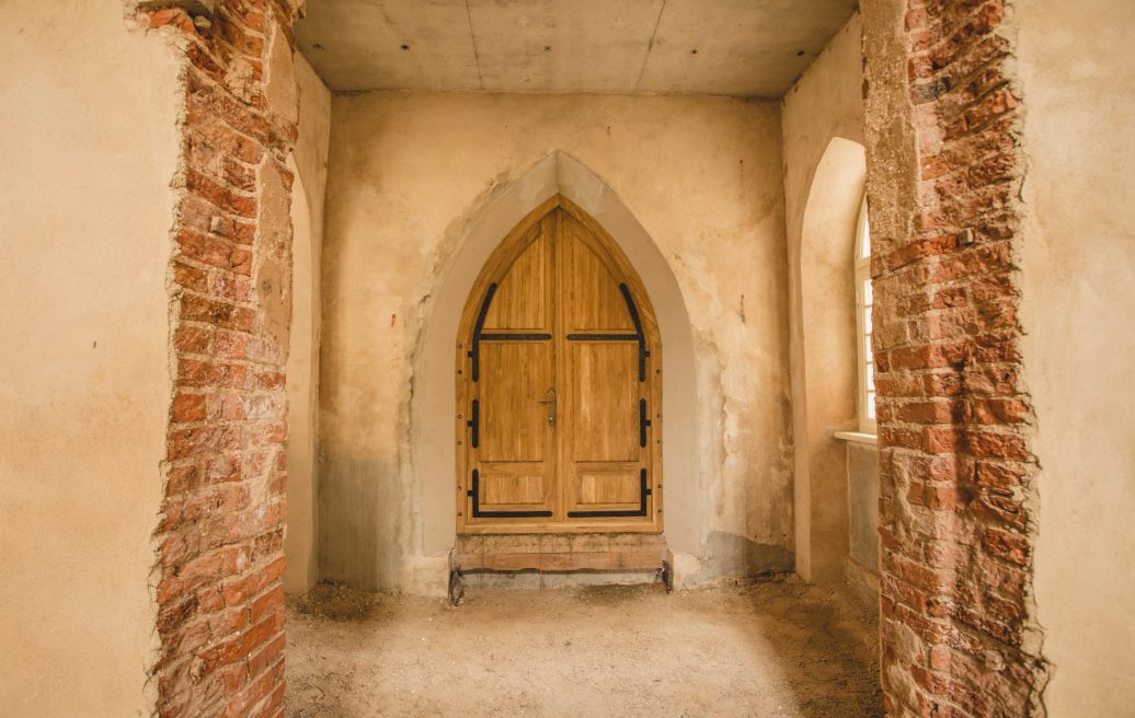
[(138, 16), (185, 56), (175, 396), (155, 534), (160, 716), (284, 715), (292, 5), (222, 0), (186, 6), (196, 17), (161, 7)]

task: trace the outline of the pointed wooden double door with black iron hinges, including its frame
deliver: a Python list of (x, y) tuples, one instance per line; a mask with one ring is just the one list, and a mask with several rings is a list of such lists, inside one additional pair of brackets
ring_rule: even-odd
[(662, 530), (662, 366), (627, 257), (556, 196), (486, 262), (457, 340), (457, 532)]

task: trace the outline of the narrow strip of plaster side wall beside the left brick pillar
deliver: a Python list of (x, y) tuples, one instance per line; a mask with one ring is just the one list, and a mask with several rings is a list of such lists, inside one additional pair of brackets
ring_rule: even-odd
[(294, 74), (300, 136), (292, 155), (292, 333), (287, 360), (287, 533), (284, 590), (303, 592), (319, 580), (316, 543), (318, 487), (320, 269), (331, 94), (302, 54)]

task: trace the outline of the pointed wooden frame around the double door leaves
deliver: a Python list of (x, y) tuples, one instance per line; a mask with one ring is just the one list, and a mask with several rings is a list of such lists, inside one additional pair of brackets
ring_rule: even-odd
[[(639, 320), (642, 327), (642, 336), (646, 350), (649, 352), (647, 363), (647, 405), (651, 407), (649, 426), (647, 429), (648, 450), (650, 453), (649, 473), (649, 496), (647, 510), (649, 521), (627, 521), (615, 522), (609, 520), (575, 520), (568, 522), (553, 522), (533, 520), (507, 520), (506, 523), (481, 524), (476, 523), (470, 516), (471, 499), (468, 492), (472, 490), (472, 476), (470, 471), (470, 446), (471, 426), (469, 425), (469, 411), (471, 399), (469, 397), (469, 373), (471, 369), (470, 338), (474, 329), (481, 299), (491, 282), (499, 280), (501, 276), (512, 267), (520, 254), (527, 248), (524, 238), (529, 230), (540, 222), (545, 216), (556, 209), (571, 214), (577, 221), (586, 227), (598, 240), (605, 256), (602, 257), (608, 268), (615, 273), (616, 281), (627, 285), (631, 298), (638, 309)], [(655, 318), (654, 306), (646, 293), (638, 272), (630, 260), (620, 248), (614, 237), (603, 228), (590, 214), (580, 209), (571, 200), (562, 194), (556, 194), (540, 203), (528, 213), (507, 235), (499, 242), (489, 259), (485, 262), (477, 281), (473, 282), (461, 321), (457, 326), (457, 337), (455, 341), (455, 371), (454, 381), (456, 383), (456, 412), (455, 429), (457, 437), (456, 447), (456, 500), (455, 521), (457, 534), (516, 534), (516, 533), (662, 533), (663, 530), (663, 468), (662, 468), (662, 341), (658, 333), (658, 322)], [(560, 481), (557, 475), (557, 481)], [(561, 484), (562, 485), (562, 484)]]

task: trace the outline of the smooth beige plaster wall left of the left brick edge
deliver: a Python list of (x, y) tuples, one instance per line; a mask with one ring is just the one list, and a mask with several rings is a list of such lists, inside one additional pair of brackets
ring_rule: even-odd
[(5, 716), (153, 707), (178, 94), (121, 3), (0, 3)]

